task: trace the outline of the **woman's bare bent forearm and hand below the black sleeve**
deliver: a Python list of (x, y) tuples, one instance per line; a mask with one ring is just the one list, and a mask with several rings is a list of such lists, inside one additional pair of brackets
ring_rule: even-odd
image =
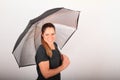
[(63, 61), (62, 65), (55, 68), (55, 69), (50, 69), (49, 68), (49, 61), (42, 61), (39, 63), (39, 68), (41, 70), (42, 75), (45, 78), (52, 77), (58, 73), (60, 73), (62, 70), (64, 70), (68, 65), (70, 64), (69, 58), (63, 54)]

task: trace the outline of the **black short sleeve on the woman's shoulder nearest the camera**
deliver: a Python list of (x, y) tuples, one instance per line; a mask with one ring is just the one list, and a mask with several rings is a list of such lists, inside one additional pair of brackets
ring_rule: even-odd
[(42, 45), (39, 46), (36, 56), (35, 56), (36, 64), (39, 64), (41, 61), (49, 60), (46, 51)]

